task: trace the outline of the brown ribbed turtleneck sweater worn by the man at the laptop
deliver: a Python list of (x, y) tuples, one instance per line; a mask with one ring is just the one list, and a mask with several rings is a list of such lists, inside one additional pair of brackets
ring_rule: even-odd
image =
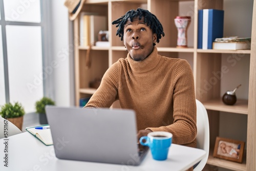
[(138, 130), (167, 131), (173, 143), (196, 147), (194, 77), (186, 60), (161, 56), (156, 47), (142, 61), (127, 54), (105, 72), (85, 108), (109, 108), (115, 100), (136, 112)]

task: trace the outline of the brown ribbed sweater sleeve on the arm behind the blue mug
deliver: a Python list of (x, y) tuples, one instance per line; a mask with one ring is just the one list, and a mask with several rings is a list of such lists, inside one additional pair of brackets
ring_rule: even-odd
[[(167, 126), (148, 127), (151, 131), (173, 134), (173, 143), (196, 146), (196, 98), (193, 72), (186, 60), (180, 60), (174, 71), (173, 118)], [(171, 114), (170, 114), (171, 115)]]

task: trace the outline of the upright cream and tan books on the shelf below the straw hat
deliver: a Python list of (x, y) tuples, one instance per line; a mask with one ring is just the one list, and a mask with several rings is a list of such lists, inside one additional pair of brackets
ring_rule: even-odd
[(81, 12), (80, 14), (80, 46), (95, 45), (98, 41), (98, 33), (107, 30), (106, 16), (96, 13)]

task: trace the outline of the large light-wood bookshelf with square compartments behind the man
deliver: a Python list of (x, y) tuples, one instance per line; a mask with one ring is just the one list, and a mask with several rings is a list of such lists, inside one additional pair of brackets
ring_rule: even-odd
[[(210, 144), (215, 143), (219, 130), (211, 127), (212, 123), (219, 125), (220, 112), (246, 115), (247, 119), (247, 140), (246, 140), (246, 159), (242, 164), (212, 157), (210, 153), (208, 164), (216, 167), (223, 167), (230, 170), (256, 170), (256, 5), (253, 4), (252, 25), (251, 25), (251, 49), (250, 50), (203, 50), (197, 49), (197, 25), (199, 9), (223, 9), (225, 0), (87, 0), (83, 7), (85, 12), (96, 12), (108, 17), (109, 41), (110, 47), (93, 46), (90, 52), (91, 68), (84, 67), (85, 56), (89, 47), (79, 45), (79, 17), (74, 20), (74, 56), (75, 56), (75, 95), (76, 105), (79, 105), (81, 97), (92, 95), (96, 89), (89, 87), (89, 82), (95, 78), (102, 77), (104, 72), (120, 57), (126, 57), (126, 50), (120, 37), (116, 36), (117, 28), (111, 23), (130, 9), (138, 7), (147, 8), (154, 13), (163, 25), (165, 37), (157, 44), (159, 53), (169, 57), (179, 58), (180, 55), (188, 56), (192, 61), (192, 68), (195, 77), (196, 97), (206, 107), (210, 122)], [(175, 18), (179, 15), (180, 3), (190, 2), (193, 7), (187, 11), (193, 15), (194, 33), (193, 45), (189, 48), (176, 48), (177, 28), (174, 25)], [(244, 3), (247, 3), (244, 2)], [(167, 16), (167, 17), (166, 17)], [(225, 20), (224, 20), (225, 22)], [(225, 25), (225, 24), (224, 24)], [(249, 88), (248, 99), (238, 99), (236, 105), (228, 106), (222, 103), (221, 81), (212, 85), (207, 93), (200, 94), (200, 89), (204, 89), (204, 80), (212, 77), (211, 73), (221, 70), (222, 54), (248, 54), (249, 62)], [(118, 102), (113, 104), (118, 108)]]

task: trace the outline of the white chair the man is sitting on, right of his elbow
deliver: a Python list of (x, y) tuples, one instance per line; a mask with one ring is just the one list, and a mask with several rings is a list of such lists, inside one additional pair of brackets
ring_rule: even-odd
[(196, 99), (197, 103), (197, 148), (206, 151), (205, 157), (194, 168), (195, 171), (203, 170), (209, 156), (210, 135), (208, 114), (204, 105)]

